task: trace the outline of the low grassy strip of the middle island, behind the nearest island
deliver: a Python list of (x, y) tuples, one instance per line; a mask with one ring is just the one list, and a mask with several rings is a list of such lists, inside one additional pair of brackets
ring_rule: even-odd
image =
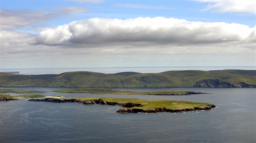
[(187, 94), (187, 91), (134, 92), (134, 91), (106, 89), (106, 88), (78, 88), (78, 89), (56, 90), (54, 92), (57, 92), (57, 93), (95, 93), (95, 94), (115, 94), (115, 95), (189, 95), (189, 94)]

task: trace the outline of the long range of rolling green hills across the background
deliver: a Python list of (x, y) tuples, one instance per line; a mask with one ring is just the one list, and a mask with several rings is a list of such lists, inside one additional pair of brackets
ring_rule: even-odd
[(90, 71), (54, 76), (0, 73), (0, 86), (42, 87), (256, 87), (256, 70), (165, 71), (157, 74)]

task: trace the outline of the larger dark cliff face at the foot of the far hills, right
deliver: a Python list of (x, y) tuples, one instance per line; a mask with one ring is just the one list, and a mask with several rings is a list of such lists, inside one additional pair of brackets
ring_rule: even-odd
[(235, 87), (228, 82), (221, 82), (217, 79), (200, 80), (195, 82), (195, 87)]

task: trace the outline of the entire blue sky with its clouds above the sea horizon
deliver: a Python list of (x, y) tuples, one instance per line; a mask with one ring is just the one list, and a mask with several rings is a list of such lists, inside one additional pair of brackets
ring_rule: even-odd
[(1, 0), (0, 69), (256, 65), (254, 0)]

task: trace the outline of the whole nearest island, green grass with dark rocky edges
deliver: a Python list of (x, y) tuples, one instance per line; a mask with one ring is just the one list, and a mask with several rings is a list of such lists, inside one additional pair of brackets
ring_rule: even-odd
[(196, 103), (189, 101), (171, 101), (171, 100), (142, 100), (142, 99), (126, 99), (111, 97), (89, 97), (78, 99), (30, 99), (28, 101), (67, 103), (74, 102), (83, 105), (118, 105), (123, 108), (116, 113), (178, 113), (189, 111), (204, 111), (215, 108), (216, 106), (209, 103)]

